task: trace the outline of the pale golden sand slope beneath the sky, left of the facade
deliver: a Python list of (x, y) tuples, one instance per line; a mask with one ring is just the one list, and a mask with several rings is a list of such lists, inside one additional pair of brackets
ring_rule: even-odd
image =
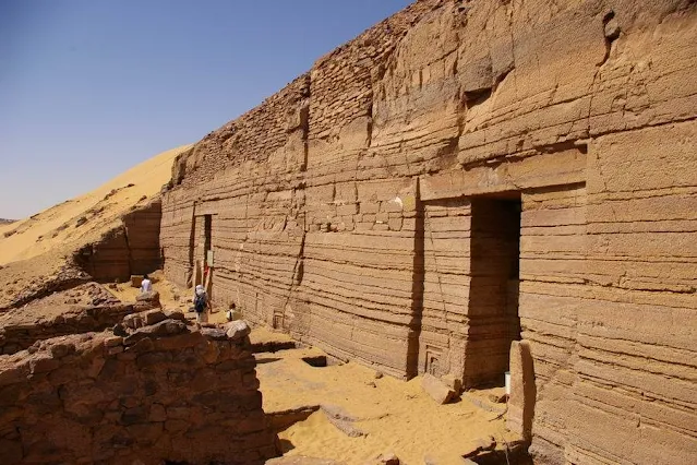
[(0, 309), (87, 279), (71, 264), (72, 254), (118, 227), (122, 215), (159, 195), (175, 158), (189, 147), (163, 152), (92, 192), (0, 224)]

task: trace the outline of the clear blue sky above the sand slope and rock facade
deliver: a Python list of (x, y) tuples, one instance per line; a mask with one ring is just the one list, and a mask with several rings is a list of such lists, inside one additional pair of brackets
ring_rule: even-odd
[(410, 0), (0, 0), (0, 217), (193, 143)]

